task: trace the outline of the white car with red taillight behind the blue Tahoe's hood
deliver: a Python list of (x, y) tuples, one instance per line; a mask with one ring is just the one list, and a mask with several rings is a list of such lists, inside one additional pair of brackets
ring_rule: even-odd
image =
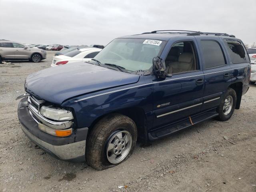
[(52, 67), (58, 65), (64, 65), (69, 63), (74, 63), (78, 61), (89, 61), (94, 58), (102, 49), (99, 48), (82, 48), (72, 50), (64, 55), (54, 56), (52, 58)]

